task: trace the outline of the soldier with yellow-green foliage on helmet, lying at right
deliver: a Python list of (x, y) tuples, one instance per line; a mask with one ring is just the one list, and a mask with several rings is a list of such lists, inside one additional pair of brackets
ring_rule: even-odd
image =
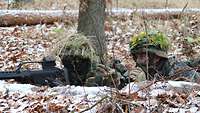
[(175, 57), (168, 57), (169, 48), (167, 37), (157, 31), (141, 32), (130, 41), (131, 55), (148, 80), (185, 78), (199, 82), (200, 74), (195, 69)]

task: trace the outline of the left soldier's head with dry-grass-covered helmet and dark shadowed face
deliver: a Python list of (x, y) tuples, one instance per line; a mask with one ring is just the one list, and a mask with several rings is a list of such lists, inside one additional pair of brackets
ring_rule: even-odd
[(66, 33), (58, 35), (60, 41), (54, 48), (56, 56), (61, 58), (62, 64), (69, 73), (69, 82), (73, 85), (84, 85), (87, 73), (90, 72), (98, 57), (89, 39), (82, 34), (66, 36)]

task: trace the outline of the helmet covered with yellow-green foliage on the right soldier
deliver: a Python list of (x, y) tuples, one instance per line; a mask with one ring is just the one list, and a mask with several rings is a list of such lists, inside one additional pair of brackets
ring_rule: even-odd
[(160, 57), (167, 58), (170, 42), (162, 32), (149, 31), (133, 36), (129, 47), (132, 55), (148, 51)]

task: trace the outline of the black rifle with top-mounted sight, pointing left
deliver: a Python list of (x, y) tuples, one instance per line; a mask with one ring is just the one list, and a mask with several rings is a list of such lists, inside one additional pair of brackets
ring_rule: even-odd
[[(42, 69), (22, 70), (23, 65), (33, 63), (42, 65)], [(50, 87), (69, 84), (67, 69), (56, 67), (55, 59), (51, 56), (44, 57), (42, 61), (22, 62), (15, 71), (0, 72), (0, 80), (4, 79), (15, 79), (21, 83), (48, 85)]]

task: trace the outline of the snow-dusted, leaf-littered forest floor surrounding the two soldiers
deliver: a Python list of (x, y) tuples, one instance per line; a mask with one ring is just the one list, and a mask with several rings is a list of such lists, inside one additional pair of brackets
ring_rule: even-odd
[[(42, 0), (43, 1), (43, 0)], [(73, 1), (73, 0), (72, 0)], [(56, 6), (57, 7), (57, 6)], [(144, 24), (146, 23), (146, 24)], [(200, 85), (184, 81), (143, 81), (144, 73), (130, 56), (130, 38), (145, 29), (159, 30), (169, 37), (169, 54), (179, 60), (200, 56), (200, 15), (178, 19), (148, 19), (137, 15), (107, 17), (105, 23), (109, 58), (129, 67), (137, 82), (122, 90), (109, 87), (59, 86), (50, 88), (0, 81), (0, 113), (139, 113), (199, 112)], [(14, 70), (21, 61), (38, 61), (52, 52), (56, 33), (76, 32), (77, 23), (65, 25), (15, 26), (0, 28), (0, 70)], [(60, 62), (57, 62), (60, 65)], [(38, 68), (27, 65), (25, 68)], [(85, 111), (84, 111), (85, 110)]]

